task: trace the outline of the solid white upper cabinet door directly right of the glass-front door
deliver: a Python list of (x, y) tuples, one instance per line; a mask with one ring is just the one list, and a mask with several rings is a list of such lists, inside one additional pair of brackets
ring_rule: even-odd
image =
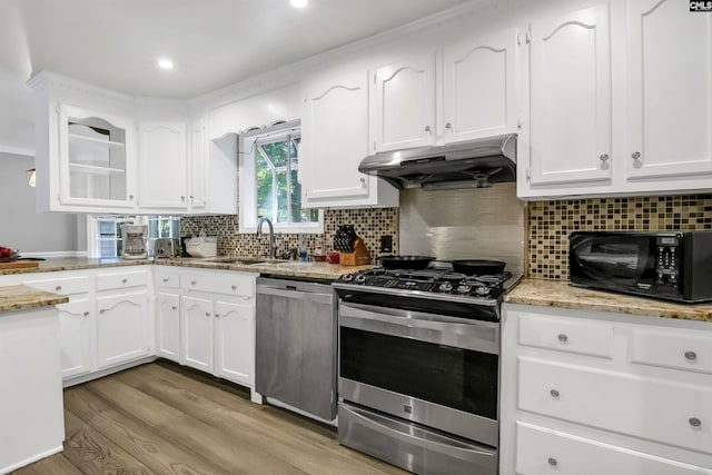
[(139, 135), (139, 206), (186, 209), (186, 125), (144, 122)]

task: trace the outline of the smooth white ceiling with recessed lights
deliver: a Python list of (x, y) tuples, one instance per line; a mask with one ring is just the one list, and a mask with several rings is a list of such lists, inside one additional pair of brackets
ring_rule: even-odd
[[(2, 0), (0, 75), (24, 81), (50, 70), (186, 99), (468, 2), (309, 0), (295, 9), (289, 0)], [(175, 69), (160, 70), (159, 57)]]

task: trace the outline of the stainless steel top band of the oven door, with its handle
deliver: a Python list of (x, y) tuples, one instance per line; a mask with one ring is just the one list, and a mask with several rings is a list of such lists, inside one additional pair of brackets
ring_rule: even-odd
[(339, 327), (500, 354), (500, 324), (339, 303)]

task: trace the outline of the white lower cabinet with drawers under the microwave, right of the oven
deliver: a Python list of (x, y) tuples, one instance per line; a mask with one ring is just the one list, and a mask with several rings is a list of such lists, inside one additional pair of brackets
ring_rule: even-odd
[(709, 323), (506, 304), (500, 473), (712, 474), (710, 347)]

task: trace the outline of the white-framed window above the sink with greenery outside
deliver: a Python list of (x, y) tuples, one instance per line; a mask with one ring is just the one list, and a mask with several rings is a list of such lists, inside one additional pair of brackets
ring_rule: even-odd
[(299, 121), (240, 135), (240, 232), (256, 231), (260, 217), (277, 232), (322, 232), (323, 211), (301, 207)]

